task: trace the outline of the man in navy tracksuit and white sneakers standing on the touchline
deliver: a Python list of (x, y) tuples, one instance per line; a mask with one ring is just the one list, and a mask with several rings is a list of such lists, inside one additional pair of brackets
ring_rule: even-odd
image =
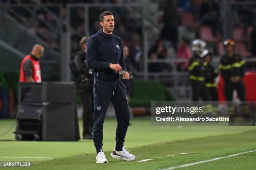
[[(113, 102), (117, 118), (116, 145), (111, 156), (115, 159), (134, 160), (135, 156), (123, 147), (128, 129), (130, 112), (126, 99), (125, 85), (120, 80), (129, 79), (123, 57), (122, 39), (113, 34), (115, 22), (113, 14), (100, 14), (100, 29), (87, 42), (86, 65), (94, 75), (93, 142), (97, 151), (96, 163), (108, 163), (102, 151), (103, 123), (108, 104)], [(119, 71), (124, 70), (120, 75)]]

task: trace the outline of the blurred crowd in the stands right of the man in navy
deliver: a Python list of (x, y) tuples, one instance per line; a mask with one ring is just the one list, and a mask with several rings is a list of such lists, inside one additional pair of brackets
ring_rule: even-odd
[[(238, 2), (242, 0), (229, 0)], [(188, 37), (179, 40), (179, 26), (186, 26), (189, 31), (195, 32), (194, 38), (200, 38), (209, 43), (213, 55), (224, 55), (223, 47), (223, 19), (220, 13), (222, 0), (164, 0), (159, 2), (159, 9), (163, 15), (159, 24), (163, 24), (161, 34), (156, 44), (150, 48), (148, 57), (158, 60), (172, 57), (167, 55), (168, 47), (165, 42), (171, 42), (177, 59), (189, 59), (192, 52), (189, 49), (191, 41)], [(248, 1), (247, 1), (248, 2)], [(251, 2), (255, 2), (251, 0)], [(237, 42), (236, 52), (243, 57), (256, 56), (256, 8), (255, 5), (231, 5), (230, 24), (233, 32), (228, 32), (230, 37)], [(231, 15), (232, 14), (232, 15)], [(173, 58), (173, 57), (172, 57)], [(177, 71), (187, 71), (188, 62), (177, 62)], [(166, 69), (169, 68), (169, 69)], [(148, 64), (149, 72), (165, 72), (172, 70), (166, 63), (152, 62)]]

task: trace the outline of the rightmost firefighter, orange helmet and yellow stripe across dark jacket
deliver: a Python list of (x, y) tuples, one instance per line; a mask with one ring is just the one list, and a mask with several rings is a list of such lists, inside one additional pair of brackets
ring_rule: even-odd
[[(240, 101), (246, 101), (246, 88), (243, 83), (245, 61), (241, 55), (234, 52), (235, 42), (231, 39), (224, 41), (226, 54), (220, 60), (219, 68), (224, 78), (224, 95), (227, 101), (233, 100), (233, 91), (236, 90)], [(237, 105), (236, 105), (237, 106)], [(228, 103), (228, 115), (230, 115), (229, 125), (233, 125), (238, 112), (232, 103)], [(243, 118), (251, 118), (247, 103), (241, 104), (241, 114)]]

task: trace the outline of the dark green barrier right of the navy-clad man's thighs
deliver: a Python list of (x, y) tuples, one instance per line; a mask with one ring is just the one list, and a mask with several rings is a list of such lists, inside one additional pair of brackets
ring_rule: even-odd
[(150, 107), (151, 101), (174, 101), (174, 97), (160, 82), (134, 81), (134, 92), (129, 105), (132, 107)]

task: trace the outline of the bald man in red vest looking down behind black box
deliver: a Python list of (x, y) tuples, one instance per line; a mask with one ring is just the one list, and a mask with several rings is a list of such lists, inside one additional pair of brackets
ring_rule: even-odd
[(21, 62), (20, 82), (41, 82), (39, 60), (44, 55), (44, 47), (40, 44), (33, 46), (29, 55)]

